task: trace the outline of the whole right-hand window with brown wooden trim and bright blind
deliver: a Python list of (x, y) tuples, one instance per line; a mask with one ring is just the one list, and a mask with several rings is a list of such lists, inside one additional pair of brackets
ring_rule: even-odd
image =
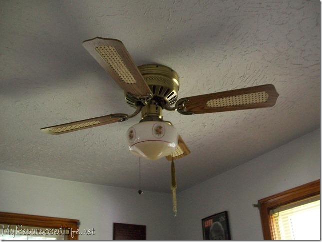
[(319, 240), (319, 195), (317, 180), (259, 200), (264, 239)]

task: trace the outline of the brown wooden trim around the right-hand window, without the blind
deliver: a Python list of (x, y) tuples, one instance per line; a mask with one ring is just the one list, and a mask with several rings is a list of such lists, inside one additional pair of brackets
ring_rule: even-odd
[(269, 211), (284, 204), (299, 201), (320, 194), (320, 180), (316, 180), (293, 189), (260, 199), (258, 201), (261, 217), (261, 225), (265, 240), (273, 239), (271, 216)]

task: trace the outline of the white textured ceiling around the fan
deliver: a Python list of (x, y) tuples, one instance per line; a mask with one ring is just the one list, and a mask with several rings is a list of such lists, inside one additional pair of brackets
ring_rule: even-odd
[[(1, 0), (0, 169), (138, 189), (126, 122), (62, 135), (40, 128), (132, 113), (83, 48), (121, 40), (135, 64), (180, 76), (179, 98), (275, 85), (274, 107), (203, 115), (164, 111), (191, 150), (178, 191), (320, 127), (318, 0)], [(170, 162), (141, 161), (143, 190), (170, 192)], [(247, 174), (245, 174), (246, 179)]]

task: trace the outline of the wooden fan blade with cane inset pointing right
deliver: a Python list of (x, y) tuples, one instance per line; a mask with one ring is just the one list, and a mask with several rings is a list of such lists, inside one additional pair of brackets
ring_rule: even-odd
[(181, 114), (201, 114), (274, 106), (278, 97), (271, 84), (181, 98), (176, 106)]

